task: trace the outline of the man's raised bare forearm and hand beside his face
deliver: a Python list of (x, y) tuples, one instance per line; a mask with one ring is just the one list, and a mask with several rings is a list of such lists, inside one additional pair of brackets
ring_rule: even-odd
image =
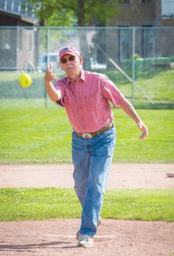
[(60, 90), (55, 90), (52, 81), (56, 80), (57, 77), (56, 75), (53, 74), (53, 66), (52, 64), (48, 65), (44, 81), (45, 81), (45, 87), (48, 92), (48, 96), (53, 102), (58, 102), (61, 100), (61, 91)]

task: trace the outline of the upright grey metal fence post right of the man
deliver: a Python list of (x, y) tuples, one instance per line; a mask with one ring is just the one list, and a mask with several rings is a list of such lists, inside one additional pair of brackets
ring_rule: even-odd
[(134, 106), (135, 92), (135, 27), (132, 27), (132, 105)]

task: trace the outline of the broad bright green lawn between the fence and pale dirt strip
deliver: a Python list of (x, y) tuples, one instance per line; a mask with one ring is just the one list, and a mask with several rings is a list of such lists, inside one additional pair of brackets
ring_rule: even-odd
[[(70, 163), (71, 126), (63, 108), (41, 108), (25, 100), (22, 108), (0, 108), (0, 163)], [(2, 101), (3, 102), (3, 101)], [(24, 103), (24, 102), (23, 102)], [(35, 105), (34, 105), (35, 103)], [(149, 138), (140, 142), (137, 125), (113, 109), (117, 143), (113, 162), (173, 163), (174, 110), (140, 110)]]

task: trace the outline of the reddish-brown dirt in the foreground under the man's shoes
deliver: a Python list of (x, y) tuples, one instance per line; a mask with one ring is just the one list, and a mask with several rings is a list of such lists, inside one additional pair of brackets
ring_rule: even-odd
[(171, 256), (174, 224), (105, 219), (94, 247), (76, 247), (80, 219), (0, 223), (0, 255)]

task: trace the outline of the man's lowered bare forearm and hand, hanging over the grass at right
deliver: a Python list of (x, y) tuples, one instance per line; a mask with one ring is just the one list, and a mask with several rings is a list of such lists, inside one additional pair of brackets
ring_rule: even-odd
[(140, 140), (144, 140), (144, 138), (148, 137), (148, 128), (143, 124), (143, 120), (140, 119), (138, 113), (135, 108), (133, 108), (132, 104), (126, 100), (123, 96), (121, 102), (119, 103), (121, 109), (128, 114), (138, 125), (138, 128), (143, 131), (142, 135), (139, 137)]

